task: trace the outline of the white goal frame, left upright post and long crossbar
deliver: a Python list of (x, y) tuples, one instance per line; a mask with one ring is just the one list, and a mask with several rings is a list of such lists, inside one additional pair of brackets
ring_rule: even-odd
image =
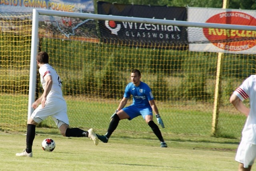
[(187, 22), (177, 20), (162, 20), (152, 18), (136, 18), (136, 17), (124, 17), (124, 16), (109, 16), (101, 14), (88, 14), (88, 13), (75, 13), (75, 12), (60, 12), (52, 10), (38, 10), (33, 9), (32, 18), (32, 42), (31, 42), (31, 56), (30, 56), (30, 81), (29, 81), (29, 99), (28, 99), (28, 119), (33, 112), (32, 103), (35, 100), (36, 92), (36, 54), (38, 52), (38, 22), (39, 15), (46, 16), (62, 16), (73, 18), (84, 18), (94, 20), (114, 20), (119, 22), (136, 22), (145, 24), (162, 24), (172, 26), (185, 26), (185, 27), (199, 27), (199, 28), (222, 28), (233, 30), (251, 30), (256, 31), (256, 26), (244, 26), (233, 24), (214, 24), (214, 23), (199, 23), (199, 22)]

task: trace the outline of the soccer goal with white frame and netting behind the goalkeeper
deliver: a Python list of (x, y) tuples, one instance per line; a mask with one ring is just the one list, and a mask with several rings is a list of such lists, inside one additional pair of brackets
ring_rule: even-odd
[[(20, 116), (23, 119), (18, 121), (19, 125), (26, 125), (25, 120), (33, 111), (30, 106), (42, 93), (36, 65), (38, 51), (48, 52), (50, 64), (62, 78), (63, 95), (68, 104), (72, 127), (95, 127), (104, 133), (134, 68), (141, 71), (141, 80), (149, 84), (153, 91), (166, 125), (161, 131), (166, 135), (209, 135), (217, 130), (218, 125), (221, 125), (218, 131), (226, 134), (232, 127), (236, 130), (234, 122), (241, 119), (241, 123), (244, 123), (242, 115), (233, 115), (228, 99), (244, 78), (254, 74), (254, 56), (227, 51), (199, 52), (190, 48), (208, 44), (224, 48), (246, 48), (239, 43), (248, 40), (255, 42), (254, 26), (49, 10), (33, 10), (32, 20), (26, 23), (30, 22), (31, 49), (27, 50), (31, 52), (28, 115)], [(122, 27), (130, 30), (122, 32)], [(152, 34), (146, 30), (164, 32)], [(173, 30), (188, 35), (182, 37), (172, 34)], [(221, 32), (248, 36), (235, 40), (228, 36), (219, 40), (216, 36), (216, 39), (210, 41), (198, 36), (204, 31), (217, 36)], [(228, 46), (231, 41), (237, 42), (239, 46)], [(15, 117), (10, 115), (5, 122), (8, 120), (15, 120)], [(51, 122), (47, 124), (54, 125)], [(230, 129), (226, 130), (226, 127)], [(119, 129), (148, 131), (141, 118), (124, 121)], [(240, 132), (234, 134), (235, 137), (240, 136)]]

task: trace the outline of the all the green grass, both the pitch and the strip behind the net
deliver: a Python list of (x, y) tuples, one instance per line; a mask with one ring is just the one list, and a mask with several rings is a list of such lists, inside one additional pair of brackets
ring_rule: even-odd
[[(36, 171), (234, 171), (238, 168), (234, 157), (244, 116), (222, 112), (219, 128), (224, 133), (218, 138), (212, 137), (211, 111), (202, 108), (205, 105), (196, 104), (176, 107), (158, 103), (166, 126), (160, 130), (168, 148), (160, 148), (157, 137), (141, 117), (120, 121), (109, 143), (100, 142), (98, 146), (88, 138), (62, 137), (52, 119), (48, 118), (36, 128), (38, 135), (34, 140), (33, 158), (16, 157), (15, 153), (26, 147), (23, 134), (27, 98), (14, 95), (10, 101), (4, 99), (7, 96), (3, 95), (0, 100), (0, 171), (25, 171), (28, 170), (26, 166)], [(100, 134), (106, 132), (112, 111), (119, 103), (119, 100), (85, 97), (66, 99), (70, 126), (84, 130), (93, 127)], [(234, 128), (230, 126), (232, 124)], [(53, 152), (41, 149), (40, 144), (47, 137), (56, 141)]]

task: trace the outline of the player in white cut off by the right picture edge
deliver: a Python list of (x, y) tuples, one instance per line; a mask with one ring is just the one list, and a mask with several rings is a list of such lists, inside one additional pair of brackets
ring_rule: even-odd
[[(242, 102), (248, 98), (250, 109)], [(239, 162), (238, 171), (250, 171), (256, 159), (256, 75), (244, 80), (231, 95), (230, 103), (247, 117), (235, 160)]]

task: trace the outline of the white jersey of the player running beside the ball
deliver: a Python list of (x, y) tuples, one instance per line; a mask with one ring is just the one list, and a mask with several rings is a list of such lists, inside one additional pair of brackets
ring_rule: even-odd
[(61, 98), (64, 100), (62, 96), (62, 82), (60, 80), (60, 77), (58, 76), (56, 70), (49, 64), (44, 64), (39, 68), (39, 73), (40, 73), (40, 78), (41, 78), (41, 83), (43, 86), (43, 89), (45, 90), (45, 80), (47, 76), (52, 76), (52, 89), (47, 95), (47, 100), (52, 99), (52, 98)]

